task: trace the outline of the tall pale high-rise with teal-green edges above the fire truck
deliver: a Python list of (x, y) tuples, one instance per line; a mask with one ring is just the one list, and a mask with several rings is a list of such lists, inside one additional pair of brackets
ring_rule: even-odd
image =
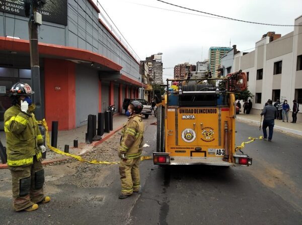
[(226, 52), (231, 50), (229, 47), (210, 47), (209, 49), (209, 71), (212, 73), (212, 77), (217, 77), (220, 59)]

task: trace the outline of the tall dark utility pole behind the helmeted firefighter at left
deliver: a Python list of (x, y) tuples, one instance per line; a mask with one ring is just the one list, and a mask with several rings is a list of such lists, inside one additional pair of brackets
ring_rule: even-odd
[(30, 47), (30, 67), (31, 78), (34, 93), (34, 102), (36, 105), (35, 115), (37, 120), (42, 120), (41, 107), (41, 86), (40, 86), (40, 66), (39, 66), (39, 49), (38, 49), (38, 26), (42, 24), (42, 16), (37, 12), (42, 8), (46, 0), (30, 0), (30, 13), (28, 21), (29, 47)]

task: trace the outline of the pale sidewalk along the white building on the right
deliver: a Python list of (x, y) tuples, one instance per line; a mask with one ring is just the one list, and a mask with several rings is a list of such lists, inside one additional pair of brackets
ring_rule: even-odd
[[(238, 114), (236, 116), (237, 116), (238, 120), (250, 122), (250, 123), (260, 126), (260, 120), (261, 120), (260, 115)], [(302, 124), (301, 123), (292, 124), (292, 123), (290, 123), (290, 121), (291, 120), (289, 120), (288, 123), (286, 123), (286, 122), (284, 123), (282, 121), (275, 120), (274, 130), (279, 130), (282, 132), (287, 132), (287, 133), (298, 135), (298, 136), (302, 137)], [(262, 117), (262, 122), (263, 122), (263, 117)]]

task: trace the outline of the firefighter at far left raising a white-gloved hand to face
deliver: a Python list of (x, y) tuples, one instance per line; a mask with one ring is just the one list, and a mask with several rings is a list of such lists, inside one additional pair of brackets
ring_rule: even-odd
[(35, 104), (30, 85), (18, 82), (9, 95), (12, 107), (4, 114), (8, 167), (12, 174), (13, 207), (16, 211), (33, 211), (37, 203), (50, 201), (44, 196), (44, 169), (42, 152), (46, 151), (43, 138), (33, 114)]

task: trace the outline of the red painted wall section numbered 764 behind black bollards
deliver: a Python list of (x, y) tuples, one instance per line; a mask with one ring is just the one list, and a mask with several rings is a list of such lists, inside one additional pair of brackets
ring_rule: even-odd
[(58, 121), (59, 130), (75, 128), (75, 64), (47, 59), (45, 65), (45, 119), (49, 129)]

